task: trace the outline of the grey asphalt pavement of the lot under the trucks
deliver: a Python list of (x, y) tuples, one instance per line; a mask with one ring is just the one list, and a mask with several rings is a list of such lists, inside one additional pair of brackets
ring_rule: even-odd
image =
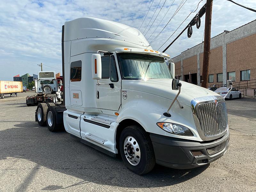
[(256, 191), (256, 100), (227, 100), (230, 146), (213, 163), (189, 170), (156, 165), (146, 175), (35, 122), (33, 93), (0, 99), (0, 191)]

